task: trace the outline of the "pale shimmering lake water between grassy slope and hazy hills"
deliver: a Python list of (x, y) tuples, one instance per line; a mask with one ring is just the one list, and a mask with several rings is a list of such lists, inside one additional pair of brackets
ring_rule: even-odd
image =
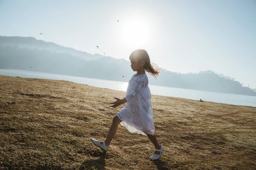
[[(87, 84), (100, 88), (109, 88), (118, 91), (126, 91), (128, 82), (116, 82), (102, 79), (90, 79), (84, 77), (73, 77), (66, 75), (48, 74), (35, 71), (23, 71), (14, 69), (0, 69), (0, 75), (26, 78), (41, 78), (67, 80), (81, 84)], [(132, 76), (132, 75), (131, 75)], [(150, 82), (149, 82), (150, 84)], [(183, 88), (170, 88), (157, 85), (149, 85), (151, 94), (161, 96), (180, 97), (185, 99), (204, 100), (209, 102), (226, 103), (231, 105), (245, 105), (256, 107), (256, 96), (245, 96), (237, 94), (215, 93), (208, 91), (189, 90)]]

